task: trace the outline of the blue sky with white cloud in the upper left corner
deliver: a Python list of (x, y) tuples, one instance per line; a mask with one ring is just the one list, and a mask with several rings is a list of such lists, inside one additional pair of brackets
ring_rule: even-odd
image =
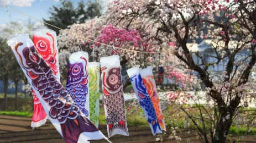
[[(108, 4), (111, 0), (103, 0), (101, 1), (102, 6)], [(74, 4), (80, 2), (80, 0), (72, 0)], [(87, 0), (85, 0), (85, 3)], [(59, 6), (61, 2), (59, 0), (0, 0), (0, 3), (7, 4), (10, 8), (14, 8), (23, 12), (25, 14), (31, 15), (37, 19), (43, 20), (48, 19), (50, 17), (49, 8), (55, 6)], [(76, 5), (75, 5), (76, 7)], [(106, 7), (104, 8), (106, 10)], [(105, 11), (103, 10), (103, 11)], [(23, 22), (27, 22), (29, 17), (17, 13), (10, 9), (10, 14), (13, 21), (21, 20)], [(6, 7), (0, 5), (0, 25), (7, 24), (11, 21), (8, 17)], [(36, 22), (35, 20), (31, 19), (32, 22)]]

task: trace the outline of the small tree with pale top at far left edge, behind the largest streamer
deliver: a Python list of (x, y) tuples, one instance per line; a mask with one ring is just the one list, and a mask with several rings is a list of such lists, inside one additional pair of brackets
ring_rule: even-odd
[(3, 24), (2, 29), (0, 30), (0, 78), (4, 84), (4, 109), (7, 109), (7, 89), (9, 80), (13, 80), (15, 85), (17, 85), (15, 86), (16, 98), (18, 83), (20, 79), (24, 78), (23, 72), (18, 65), (17, 59), (14, 57), (12, 49), (7, 45), (7, 39), (15, 33), (31, 33), (30, 31), (32, 31), (33, 28), (35, 28), (35, 24), (31, 23), (29, 20), (27, 24), (24, 24), (22, 21)]

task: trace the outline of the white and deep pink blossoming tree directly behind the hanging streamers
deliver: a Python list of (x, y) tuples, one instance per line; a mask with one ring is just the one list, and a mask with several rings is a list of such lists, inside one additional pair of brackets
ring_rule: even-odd
[[(69, 29), (66, 29), (77, 35), (99, 42), (94, 42), (95, 46), (93, 46), (93, 42), (81, 37), (75, 37), (65, 31), (61, 31), (58, 35), (60, 68), (63, 69), (61, 70), (61, 75), (64, 82), (67, 58), (71, 52), (75, 51), (83, 50), (89, 52), (89, 55), (91, 55), (90, 61), (93, 60), (92, 57), (94, 57), (96, 61), (99, 61), (100, 57), (118, 54), (121, 58), (121, 65), (124, 68), (129, 68), (139, 63), (141, 63), (139, 65), (145, 67), (145, 65), (157, 62), (156, 60), (152, 60), (159, 55), (156, 56), (153, 49), (149, 48), (152, 46), (151, 41), (148, 41), (147, 38), (143, 38), (143, 35), (140, 35), (137, 30), (119, 29), (108, 21), (103, 20), (104, 18), (105, 17), (95, 18), (84, 24), (74, 24), (71, 25)], [(100, 43), (105, 43), (109, 46), (101, 45)], [(130, 81), (126, 81), (127, 83), (124, 83), (124, 87), (130, 85)]]

